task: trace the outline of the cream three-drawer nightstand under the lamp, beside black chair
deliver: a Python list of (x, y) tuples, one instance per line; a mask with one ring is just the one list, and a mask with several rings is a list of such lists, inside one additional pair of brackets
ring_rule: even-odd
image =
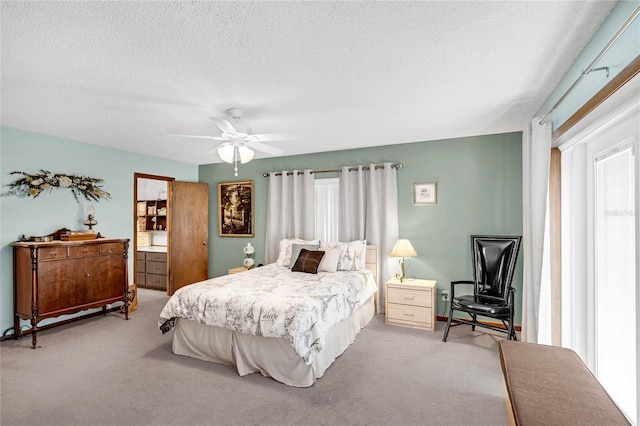
[(434, 331), (436, 329), (436, 282), (392, 278), (385, 284), (387, 324)]

